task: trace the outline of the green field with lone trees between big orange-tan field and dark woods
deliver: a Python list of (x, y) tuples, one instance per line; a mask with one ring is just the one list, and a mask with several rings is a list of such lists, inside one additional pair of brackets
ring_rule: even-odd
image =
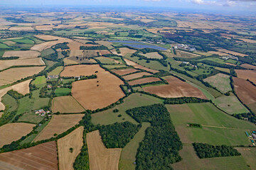
[[(149, 106), (154, 103), (161, 102), (161, 99), (146, 94), (131, 94), (130, 96), (124, 99), (124, 103), (117, 105), (114, 108), (108, 109), (107, 111), (92, 114), (92, 123), (95, 125), (110, 125), (116, 122), (129, 121), (131, 123), (137, 124), (137, 122), (129, 115), (127, 115), (125, 111), (127, 111), (130, 108)], [(113, 113), (113, 110), (116, 108), (119, 110), (119, 112)], [(122, 116), (118, 117), (119, 114)]]

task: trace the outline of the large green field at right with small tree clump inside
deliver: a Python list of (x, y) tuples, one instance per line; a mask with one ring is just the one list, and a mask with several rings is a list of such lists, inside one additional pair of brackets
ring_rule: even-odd
[[(167, 108), (183, 143), (251, 145), (245, 130), (253, 130), (255, 125), (225, 114), (211, 103), (167, 105)], [(202, 128), (189, 128), (188, 123), (198, 123)]]

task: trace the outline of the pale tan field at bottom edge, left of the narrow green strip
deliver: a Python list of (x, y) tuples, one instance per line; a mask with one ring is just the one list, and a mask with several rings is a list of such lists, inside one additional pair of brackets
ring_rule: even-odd
[(119, 157), (122, 149), (107, 149), (102, 142), (98, 130), (87, 133), (86, 141), (91, 170), (118, 170)]

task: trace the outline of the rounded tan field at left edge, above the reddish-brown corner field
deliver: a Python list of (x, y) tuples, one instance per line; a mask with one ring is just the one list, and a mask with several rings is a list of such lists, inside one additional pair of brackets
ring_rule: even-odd
[(0, 147), (19, 140), (33, 130), (30, 123), (9, 123), (0, 127)]

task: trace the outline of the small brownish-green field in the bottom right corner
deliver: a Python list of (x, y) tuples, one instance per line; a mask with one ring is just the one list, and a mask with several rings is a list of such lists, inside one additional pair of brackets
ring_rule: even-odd
[(251, 148), (243, 148), (243, 147), (235, 147), (235, 149), (238, 150), (242, 154), (242, 157), (244, 157), (245, 162), (247, 165), (250, 165), (251, 169), (256, 169), (256, 162), (255, 162), (255, 157), (256, 157), (256, 148), (251, 147)]

